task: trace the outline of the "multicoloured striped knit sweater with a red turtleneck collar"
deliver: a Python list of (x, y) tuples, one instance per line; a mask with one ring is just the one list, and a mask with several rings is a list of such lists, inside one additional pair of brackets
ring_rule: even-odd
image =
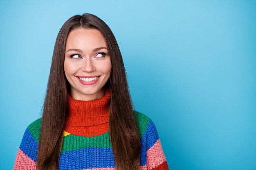
[[(69, 116), (63, 132), (59, 170), (114, 170), (108, 132), (110, 91), (96, 100), (69, 98)], [(133, 110), (141, 137), (140, 170), (168, 170), (166, 157), (153, 121)], [(13, 170), (36, 170), (42, 118), (33, 121), (22, 137)]]

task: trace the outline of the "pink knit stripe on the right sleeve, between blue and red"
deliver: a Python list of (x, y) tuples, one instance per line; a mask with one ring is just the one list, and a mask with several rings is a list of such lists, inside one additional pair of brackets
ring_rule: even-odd
[(164, 151), (163, 151), (160, 139), (158, 139), (155, 142), (155, 144), (147, 150), (148, 169), (151, 170), (159, 166), (164, 161), (166, 161), (166, 157), (164, 156)]

